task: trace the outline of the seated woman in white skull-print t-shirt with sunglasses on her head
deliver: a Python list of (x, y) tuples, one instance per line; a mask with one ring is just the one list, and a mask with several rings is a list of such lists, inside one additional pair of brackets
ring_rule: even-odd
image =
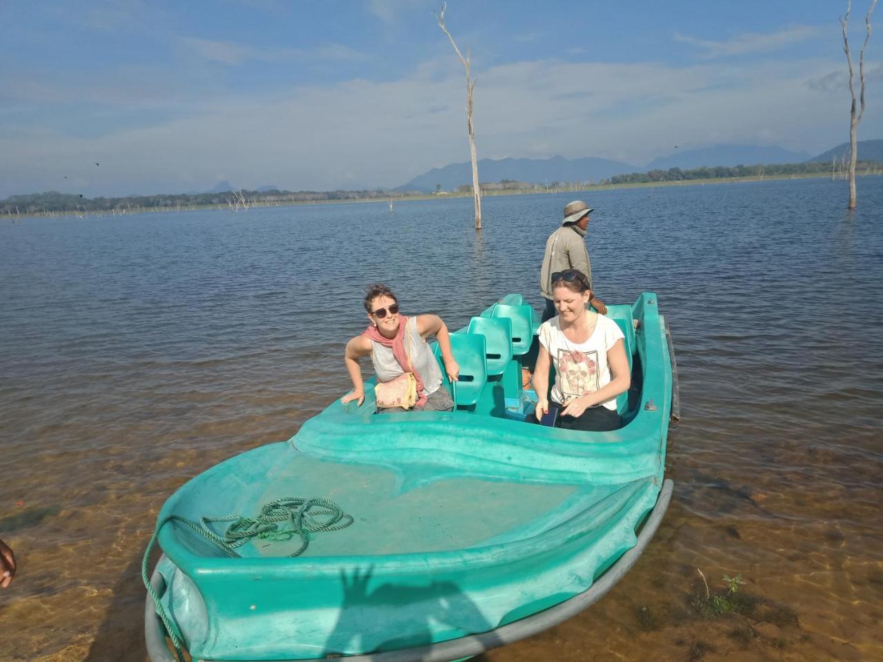
[[(577, 269), (552, 275), (558, 315), (540, 326), (540, 355), (533, 373), (540, 420), (558, 407), (557, 426), (600, 432), (622, 427), (616, 396), (629, 390), (631, 375), (623, 332), (616, 322), (585, 305), (592, 297), (589, 280)], [(552, 404), (547, 400), (549, 363), (555, 365)]]

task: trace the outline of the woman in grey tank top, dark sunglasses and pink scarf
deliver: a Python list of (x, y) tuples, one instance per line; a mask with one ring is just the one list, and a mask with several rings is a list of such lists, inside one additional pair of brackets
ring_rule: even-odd
[[(445, 372), (451, 381), (457, 381), (460, 366), (450, 350), (448, 327), (438, 315), (426, 314), (405, 317), (398, 312), (398, 299), (386, 285), (376, 284), (368, 288), (365, 297), (368, 314), (366, 330), (346, 343), (344, 362), (352, 380), (352, 390), (341, 402), (365, 401), (365, 383), (358, 361), (371, 357), (377, 380), (386, 382), (404, 374), (410, 357), (412, 372), (418, 379), (418, 403), (415, 410), (450, 411), (454, 408), (447, 389), (442, 387), (442, 371), (435, 361), (426, 338), (434, 335), (442, 350)], [(404, 327), (403, 327), (404, 325)], [(406, 348), (406, 350), (404, 349)], [(404, 352), (407, 352), (406, 354)], [(410, 370), (408, 372), (411, 372)], [(404, 411), (401, 408), (378, 411)]]

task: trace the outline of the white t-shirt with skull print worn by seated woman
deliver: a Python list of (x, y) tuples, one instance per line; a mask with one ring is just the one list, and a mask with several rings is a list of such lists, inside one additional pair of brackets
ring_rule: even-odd
[[(617, 340), (623, 338), (623, 332), (614, 320), (598, 315), (594, 331), (585, 342), (570, 342), (562, 332), (557, 316), (543, 322), (539, 335), (540, 344), (546, 348), (555, 365), (553, 402), (565, 404), (610, 383), (607, 353)], [(601, 406), (615, 410), (616, 398), (601, 402)]]

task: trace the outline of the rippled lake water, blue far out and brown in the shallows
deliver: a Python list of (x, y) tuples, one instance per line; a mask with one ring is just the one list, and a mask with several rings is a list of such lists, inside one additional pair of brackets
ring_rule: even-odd
[[(599, 296), (658, 293), (680, 373), (671, 508), (600, 603), (487, 660), (883, 659), (883, 177), (0, 222), (0, 658), (145, 658), (170, 493), (343, 395), (368, 282), (450, 327), (539, 307), (589, 197)], [(741, 573), (768, 617), (701, 618)]]

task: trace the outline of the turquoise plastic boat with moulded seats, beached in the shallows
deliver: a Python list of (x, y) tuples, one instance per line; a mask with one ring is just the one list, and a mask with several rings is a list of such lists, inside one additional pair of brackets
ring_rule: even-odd
[[(158, 520), (150, 659), (174, 659), (174, 634), (195, 660), (449, 662), (591, 605), (638, 559), (668, 507), (666, 441), (677, 416), (656, 295), (611, 305), (608, 316), (632, 371), (617, 401), (627, 424), (615, 432), (525, 423), (536, 395), (522, 368), (532, 368), (540, 325), (509, 295), (451, 334), (460, 381), (444, 387), (456, 410), (374, 415), (369, 383), (361, 407), (338, 399), (291, 440), (183, 485)], [(229, 523), (212, 518), (254, 517), (287, 497), (333, 501), (352, 523), (307, 515), (337, 524), (305, 534), (296, 557), (297, 536), (251, 538), (230, 552), (203, 535), (223, 536)], [(184, 522), (204, 517), (201, 532)]]

